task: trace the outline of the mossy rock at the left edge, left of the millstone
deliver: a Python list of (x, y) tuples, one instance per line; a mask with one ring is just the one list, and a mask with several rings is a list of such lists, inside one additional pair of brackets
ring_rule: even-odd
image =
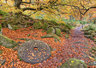
[(8, 37), (0, 34), (0, 45), (7, 47), (7, 48), (13, 48), (18, 44), (12, 39), (9, 39)]

